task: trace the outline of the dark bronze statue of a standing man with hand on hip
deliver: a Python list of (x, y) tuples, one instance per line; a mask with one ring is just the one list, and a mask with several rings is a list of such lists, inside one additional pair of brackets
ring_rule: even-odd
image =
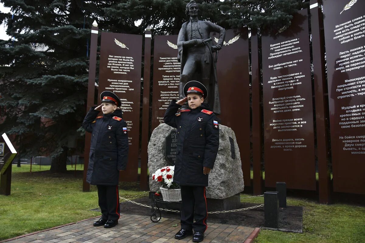
[[(189, 81), (199, 81), (207, 87), (207, 102), (214, 113), (220, 114), (218, 81), (216, 75), (216, 58), (213, 52), (223, 46), (226, 30), (210, 21), (198, 20), (199, 8), (195, 1), (190, 1), (185, 8), (189, 21), (180, 29), (177, 38), (177, 59), (181, 63), (180, 99), (184, 98), (184, 86)], [(212, 46), (210, 33), (219, 33), (219, 41)]]

